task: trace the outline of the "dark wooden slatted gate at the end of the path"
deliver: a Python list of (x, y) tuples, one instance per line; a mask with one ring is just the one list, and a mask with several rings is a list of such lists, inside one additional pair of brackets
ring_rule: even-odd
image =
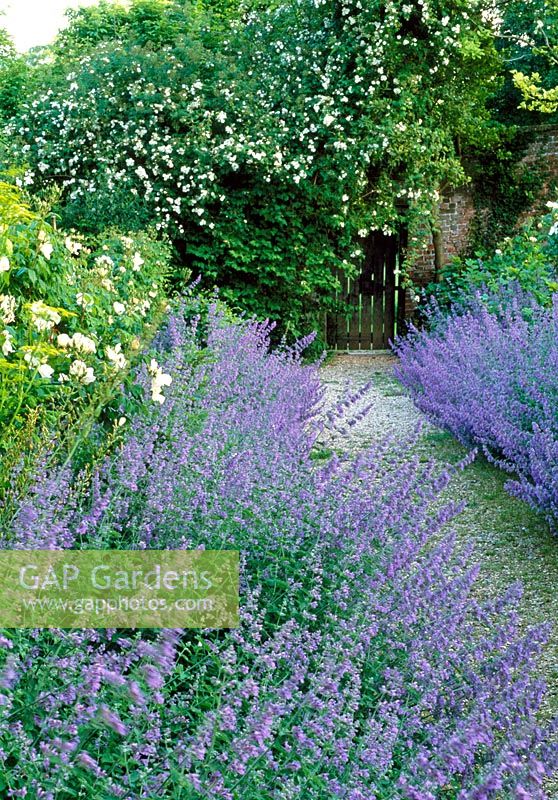
[(387, 350), (405, 319), (401, 287), (404, 236), (374, 231), (367, 239), (364, 267), (357, 278), (339, 272), (338, 312), (328, 314), (326, 335), (334, 350)]

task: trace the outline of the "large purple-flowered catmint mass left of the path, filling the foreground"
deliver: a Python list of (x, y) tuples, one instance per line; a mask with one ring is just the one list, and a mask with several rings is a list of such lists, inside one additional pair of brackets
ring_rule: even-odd
[(92, 476), (39, 464), (3, 545), (239, 549), (241, 625), (4, 631), (0, 790), (544, 797), (544, 631), (518, 635), (515, 590), (473, 599), (445, 527), (458, 509), (437, 502), (449, 475), (405, 446), (316, 461), (350, 411), (318, 415), (302, 345), (269, 353), (268, 326), (212, 310), (202, 349), (196, 325), (175, 315), (158, 338), (164, 402)]

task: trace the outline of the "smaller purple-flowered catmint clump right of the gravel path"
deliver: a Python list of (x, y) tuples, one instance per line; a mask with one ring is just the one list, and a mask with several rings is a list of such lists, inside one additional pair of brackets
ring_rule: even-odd
[(509, 490), (558, 521), (558, 294), (477, 295), (399, 342), (397, 376), (434, 422), (515, 475)]

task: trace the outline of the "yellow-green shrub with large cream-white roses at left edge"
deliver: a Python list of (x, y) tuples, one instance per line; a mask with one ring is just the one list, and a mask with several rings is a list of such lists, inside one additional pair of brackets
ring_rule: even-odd
[(161, 315), (168, 248), (147, 234), (89, 242), (0, 184), (0, 423), (87, 401), (122, 377)]

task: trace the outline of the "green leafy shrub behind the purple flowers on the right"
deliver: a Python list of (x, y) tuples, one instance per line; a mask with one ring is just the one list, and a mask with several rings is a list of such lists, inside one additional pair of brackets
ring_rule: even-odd
[(529, 220), (494, 253), (454, 259), (444, 268), (441, 283), (426, 287), (424, 299), (436, 298), (441, 308), (463, 306), (477, 291), (488, 298), (519, 284), (538, 303), (550, 305), (558, 291), (558, 203), (547, 205), (547, 214)]

